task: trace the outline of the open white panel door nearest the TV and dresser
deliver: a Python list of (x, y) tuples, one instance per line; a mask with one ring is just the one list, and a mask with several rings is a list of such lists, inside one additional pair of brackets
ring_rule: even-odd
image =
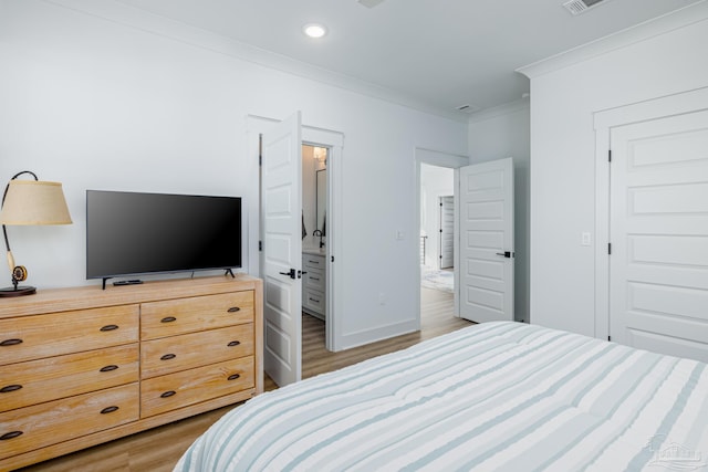
[(262, 137), (266, 373), (284, 386), (302, 375), (302, 155), (300, 113)]

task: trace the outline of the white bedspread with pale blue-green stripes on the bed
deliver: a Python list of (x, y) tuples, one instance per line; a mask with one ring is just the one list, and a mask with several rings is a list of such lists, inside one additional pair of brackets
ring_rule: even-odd
[(267, 392), (176, 471), (708, 470), (708, 366), (485, 323)]

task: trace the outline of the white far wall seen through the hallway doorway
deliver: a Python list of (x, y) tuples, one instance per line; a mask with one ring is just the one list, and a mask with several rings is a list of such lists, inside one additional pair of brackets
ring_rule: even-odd
[(439, 197), (455, 195), (455, 170), (447, 167), (420, 165), (420, 225), (426, 240), (426, 265), (438, 269), (440, 244)]

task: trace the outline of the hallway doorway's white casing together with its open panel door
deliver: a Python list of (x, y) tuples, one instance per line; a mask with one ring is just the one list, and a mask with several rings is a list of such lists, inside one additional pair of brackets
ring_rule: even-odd
[[(470, 165), (465, 156), (416, 148), (419, 228), (426, 165), (454, 170), (454, 316), (478, 323), (513, 321), (513, 159)], [(424, 237), (428, 237), (427, 231), (421, 233), (421, 241)], [(419, 276), (418, 291), (423, 295), (423, 270)], [(420, 296), (416, 302), (419, 324)]]

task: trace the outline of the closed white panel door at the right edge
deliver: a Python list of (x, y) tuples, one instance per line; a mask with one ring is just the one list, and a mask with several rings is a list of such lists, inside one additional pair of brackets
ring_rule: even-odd
[(611, 129), (612, 340), (708, 361), (708, 112)]

